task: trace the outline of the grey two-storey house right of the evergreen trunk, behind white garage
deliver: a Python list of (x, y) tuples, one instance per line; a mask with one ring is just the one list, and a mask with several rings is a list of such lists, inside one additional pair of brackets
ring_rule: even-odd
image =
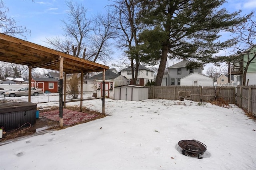
[(168, 67), (168, 77), (167, 77), (167, 85), (166, 86), (172, 86), (172, 85), (181, 85), (180, 79), (188, 76), (194, 72), (198, 72), (202, 74), (203, 68), (191, 68), (189, 70), (186, 69), (186, 64), (190, 61), (183, 60), (179, 63), (176, 63), (172, 66)]

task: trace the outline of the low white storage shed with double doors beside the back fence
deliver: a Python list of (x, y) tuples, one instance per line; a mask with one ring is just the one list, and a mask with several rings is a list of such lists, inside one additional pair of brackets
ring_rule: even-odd
[(115, 88), (115, 100), (140, 101), (148, 99), (148, 88), (126, 85)]

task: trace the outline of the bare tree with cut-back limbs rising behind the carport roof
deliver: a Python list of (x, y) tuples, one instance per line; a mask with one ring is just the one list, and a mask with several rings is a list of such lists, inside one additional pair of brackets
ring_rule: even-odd
[[(46, 43), (50, 47), (74, 57), (94, 62), (96, 60), (106, 62), (111, 59), (110, 54), (113, 51), (111, 51), (108, 41), (113, 38), (112, 35), (115, 32), (109, 27), (111, 18), (98, 15), (98, 20), (93, 22), (86, 16), (87, 9), (82, 4), (69, 1), (66, 2), (66, 5), (69, 8), (68, 18), (62, 20), (62, 29), (66, 38), (49, 38)], [(79, 76), (80, 74), (73, 74), (72, 80), (69, 82), (70, 86), (78, 87)], [(71, 91), (74, 92), (74, 90), (78, 90), (78, 88), (72, 87)], [(76, 93), (73, 95), (74, 99), (77, 98)]]

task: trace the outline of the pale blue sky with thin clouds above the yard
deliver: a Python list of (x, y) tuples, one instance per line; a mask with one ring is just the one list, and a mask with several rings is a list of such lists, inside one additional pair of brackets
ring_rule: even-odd
[[(104, 13), (104, 7), (110, 2), (108, 0), (74, 0), (88, 8), (88, 17), (97, 13)], [(46, 38), (62, 36), (62, 21), (67, 15), (68, 7), (64, 0), (4, 0), (6, 7), (9, 8), (8, 16), (19, 21), (17, 25), (24, 25), (31, 31), (26, 35), (27, 41), (46, 46)], [(228, 0), (224, 7), (229, 12), (242, 10), (242, 14), (249, 14), (256, 10), (256, 0)], [(223, 33), (222, 38), (227, 39), (230, 35)], [(220, 51), (220, 55), (225, 55), (226, 51)], [(116, 53), (113, 57), (118, 58)], [(227, 54), (228, 55), (228, 54)], [(178, 61), (168, 60), (168, 64), (173, 65)], [(111, 66), (112, 63), (109, 63)], [(208, 65), (210, 66), (210, 65)], [(204, 69), (204, 73), (207, 67)]]

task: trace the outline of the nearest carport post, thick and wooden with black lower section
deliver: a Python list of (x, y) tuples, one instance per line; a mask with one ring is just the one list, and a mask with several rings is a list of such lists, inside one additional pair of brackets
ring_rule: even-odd
[(62, 129), (63, 126), (63, 57), (60, 56), (60, 88), (59, 88), (59, 95), (60, 95), (60, 128)]

